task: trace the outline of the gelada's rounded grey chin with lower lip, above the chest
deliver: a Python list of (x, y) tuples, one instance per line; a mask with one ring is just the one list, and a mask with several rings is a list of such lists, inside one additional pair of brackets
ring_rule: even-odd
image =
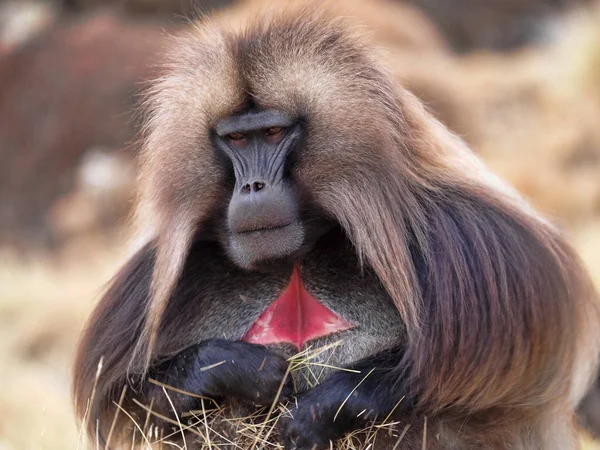
[(259, 270), (277, 263), (293, 262), (306, 247), (305, 238), (301, 223), (231, 233), (228, 236), (228, 254), (242, 269)]

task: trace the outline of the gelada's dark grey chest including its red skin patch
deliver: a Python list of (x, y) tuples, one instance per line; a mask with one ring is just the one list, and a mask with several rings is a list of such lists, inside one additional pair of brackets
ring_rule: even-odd
[(237, 268), (216, 243), (198, 244), (182, 276), (186, 288), (169, 304), (164, 329), (173, 347), (162, 353), (189, 345), (174, 325), (179, 314), (194, 318), (196, 342), (246, 340), (288, 358), (300, 353), (300, 378), (313, 381), (401, 343), (404, 327), (392, 300), (368, 268), (361, 270), (350, 245), (334, 239), (317, 248), (295, 264), (257, 272)]

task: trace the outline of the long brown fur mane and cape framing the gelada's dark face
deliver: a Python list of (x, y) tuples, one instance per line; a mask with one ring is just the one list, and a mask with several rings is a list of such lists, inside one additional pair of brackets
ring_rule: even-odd
[[(97, 395), (169, 347), (170, 336), (158, 330), (190, 242), (228, 198), (209, 130), (250, 95), (307, 118), (296, 179), (393, 298), (420, 407), (465, 423), (475, 415), (464, 430), (469, 446), (450, 419), (446, 444), (435, 445), (575, 448), (573, 411), (600, 340), (596, 295), (582, 264), (559, 231), (394, 83), (364, 30), (319, 5), (269, 9), (239, 29), (226, 18), (205, 20), (170, 54), (150, 93), (141, 155), (140, 217), (152, 225), (148, 245), (156, 249), (147, 311), (117, 318), (137, 342), (97, 344), (125, 349), (105, 355)], [(426, 290), (415, 249), (427, 267)], [(130, 276), (126, 267), (115, 285)], [(89, 323), (116, 297), (109, 290)], [(181, 321), (185, 327), (187, 318)], [(80, 417), (99, 357), (77, 357)]]

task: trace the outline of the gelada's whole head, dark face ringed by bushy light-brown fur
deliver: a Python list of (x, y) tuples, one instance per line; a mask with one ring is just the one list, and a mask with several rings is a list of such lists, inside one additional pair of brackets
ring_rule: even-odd
[(146, 198), (169, 235), (199, 224), (244, 269), (297, 260), (347, 225), (341, 205), (377, 191), (372, 174), (392, 172), (395, 90), (358, 38), (316, 20), (239, 35), (210, 27), (153, 91)]

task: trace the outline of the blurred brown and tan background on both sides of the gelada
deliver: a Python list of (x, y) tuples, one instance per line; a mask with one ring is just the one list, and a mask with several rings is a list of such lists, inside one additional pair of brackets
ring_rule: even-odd
[[(600, 285), (600, 4), (339, 1)], [(127, 252), (139, 94), (169, 33), (232, 3), (0, 1), (0, 450), (77, 448), (71, 358)], [(600, 432), (600, 394), (583, 412)]]

